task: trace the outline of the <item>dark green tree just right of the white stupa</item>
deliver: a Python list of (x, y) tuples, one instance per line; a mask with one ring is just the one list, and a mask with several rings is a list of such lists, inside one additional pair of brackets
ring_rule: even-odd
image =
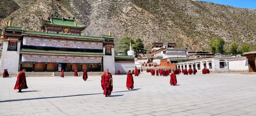
[(139, 38), (136, 39), (135, 44), (132, 45), (132, 48), (135, 53), (135, 57), (137, 57), (139, 54), (145, 54), (146, 50), (144, 49), (143, 41)]

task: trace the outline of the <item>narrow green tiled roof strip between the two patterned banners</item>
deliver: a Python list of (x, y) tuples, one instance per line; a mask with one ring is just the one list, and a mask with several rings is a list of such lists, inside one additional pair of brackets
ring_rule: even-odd
[(80, 52), (80, 51), (51, 51), (51, 50), (38, 50), (38, 49), (21, 49), (20, 51), (26, 51), (26, 52), (40, 52), (40, 53), (64, 53), (64, 54), (104, 55), (104, 53)]

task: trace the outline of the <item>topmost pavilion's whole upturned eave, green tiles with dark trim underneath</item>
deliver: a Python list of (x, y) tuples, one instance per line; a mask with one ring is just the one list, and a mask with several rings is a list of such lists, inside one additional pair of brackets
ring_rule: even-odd
[[(54, 23), (53, 20), (58, 21), (57, 23)], [(74, 25), (70, 25), (67, 24), (65, 22), (74, 22)], [(77, 25), (75, 20), (69, 20), (69, 19), (65, 19), (65, 18), (50, 18), (50, 21), (46, 21), (42, 19), (42, 25), (40, 26), (40, 28), (44, 28), (45, 25), (48, 26), (57, 26), (57, 27), (64, 27), (64, 28), (73, 28), (73, 29), (80, 29), (80, 30), (84, 30), (87, 26), (81, 26), (81, 25)]]

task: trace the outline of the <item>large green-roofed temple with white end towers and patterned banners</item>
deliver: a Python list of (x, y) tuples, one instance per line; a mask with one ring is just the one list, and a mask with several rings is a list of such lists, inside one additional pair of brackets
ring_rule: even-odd
[[(114, 37), (83, 36), (86, 26), (64, 18), (42, 19), (42, 31), (26, 31), (8, 23), (1, 36), (0, 71), (94, 71), (115, 73)], [(118, 63), (132, 57), (116, 56)], [(126, 59), (127, 58), (127, 59)], [(134, 60), (133, 60), (134, 63)]]

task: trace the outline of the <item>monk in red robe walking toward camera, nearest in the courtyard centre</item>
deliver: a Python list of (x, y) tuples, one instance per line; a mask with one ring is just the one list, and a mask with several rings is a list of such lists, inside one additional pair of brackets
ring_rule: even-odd
[(113, 81), (111, 73), (108, 73), (108, 69), (106, 69), (105, 73), (101, 76), (101, 87), (104, 90), (103, 94), (105, 97), (109, 97), (113, 90)]

